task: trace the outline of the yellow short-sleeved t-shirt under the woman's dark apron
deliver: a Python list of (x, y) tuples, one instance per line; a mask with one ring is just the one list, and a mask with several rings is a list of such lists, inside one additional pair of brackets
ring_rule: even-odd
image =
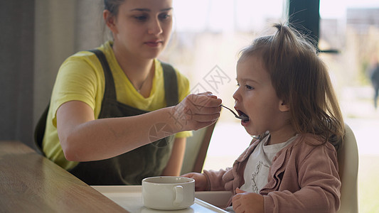
[[(145, 98), (137, 92), (121, 67), (119, 67), (111, 45), (112, 42), (108, 41), (99, 49), (105, 54), (110, 70), (112, 70), (117, 101), (145, 111), (154, 111), (166, 107), (161, 62), (154, 60), (155, 75), (153, 84), (149, 97)], [(178, 97), (179, 102), (181, 102), (189, 94), (189, 82), (177, 70), (176, 76), (178, 80)], [(46, 132), (43, 138), (43, 152), (47, 158), (53, 160), (65, 170), (75, 167), (78, 162), (65, 159), (56, 128), (56, 112), (60, 105), (65, 102), (78, 100), (88, 104), (93, 109), (94, 116), (97, 119), (100, 114), (104, 90), (104, 72), (100, 61), (94, 53), (81, 51), (70, 56), (60, 66), (50, 100)], [(183, 138), (191, 135), (191, 131), (184, 131), (177, 133), (176, 137)]]

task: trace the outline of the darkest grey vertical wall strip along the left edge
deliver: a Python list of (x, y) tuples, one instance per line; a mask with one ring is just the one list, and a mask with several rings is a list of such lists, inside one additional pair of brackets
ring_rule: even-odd
[(33, 146), (34, 1), (0, 1), (0, 140)]

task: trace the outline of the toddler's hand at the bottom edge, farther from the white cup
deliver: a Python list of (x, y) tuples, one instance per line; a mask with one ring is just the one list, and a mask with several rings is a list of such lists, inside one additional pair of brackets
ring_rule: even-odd
[(264, 213), (265, 201), (263, 196), (253, 192), (245, 192), (237, 188), (237, 195), (233, 197), (233, 209), (235, 213)]

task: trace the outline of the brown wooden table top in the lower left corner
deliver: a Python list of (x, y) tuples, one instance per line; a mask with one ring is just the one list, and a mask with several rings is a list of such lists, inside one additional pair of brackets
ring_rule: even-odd
[(0, 141), (0, 212), (127, 212), (18, 141)]

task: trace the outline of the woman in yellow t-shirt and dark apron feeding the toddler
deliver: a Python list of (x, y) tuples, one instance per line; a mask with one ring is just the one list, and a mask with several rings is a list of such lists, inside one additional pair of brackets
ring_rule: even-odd
[(171, 35), (171, 0), (104, 3), (113, 40), (61, 65), (43, 153), (89, 185), (179, 175), (186, 131), (213, 124), (221, 100), (188, 95), (186, 77), (156, 59)]

